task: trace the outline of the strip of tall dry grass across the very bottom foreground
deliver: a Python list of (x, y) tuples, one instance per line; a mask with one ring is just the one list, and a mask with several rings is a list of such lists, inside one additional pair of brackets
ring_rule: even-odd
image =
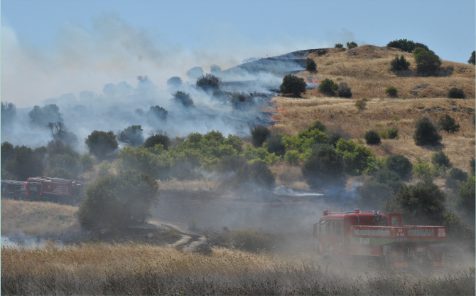
[[(467, 271), (428, 277), (378, 273), (313, 255), (151, 245), (1, 249), (2, 295), (474, 295)], [(466, 268), (467, 270), (467, 268)]]

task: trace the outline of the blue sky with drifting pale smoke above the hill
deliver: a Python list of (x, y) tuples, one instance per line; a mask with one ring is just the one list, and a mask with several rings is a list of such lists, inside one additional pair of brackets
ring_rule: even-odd
[(148, 75), (166, 88), (199, 65), (406, 38), (444, 60), (475, 50), (475, 1), (1, 1), (1, 100), (49, 97)]

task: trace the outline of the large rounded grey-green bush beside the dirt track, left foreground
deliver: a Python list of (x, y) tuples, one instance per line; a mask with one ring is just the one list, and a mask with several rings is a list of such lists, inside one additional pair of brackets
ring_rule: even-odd
[(158, 193), (157, 181), (148, 174), (121, 171), (87, 187), (77, 216), (85, 229), (125, 228), (152, 216)]

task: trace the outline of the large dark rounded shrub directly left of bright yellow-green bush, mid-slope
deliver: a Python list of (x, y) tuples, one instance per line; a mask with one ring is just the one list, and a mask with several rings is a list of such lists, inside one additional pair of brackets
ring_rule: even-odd
[(301, 167), (309, 186), (340, 183), (344, 176), (344, 159), (328, 145), (318, 145)]

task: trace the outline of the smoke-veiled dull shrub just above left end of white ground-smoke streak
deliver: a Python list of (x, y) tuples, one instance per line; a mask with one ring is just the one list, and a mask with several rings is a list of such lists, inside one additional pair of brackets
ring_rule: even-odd
[(261, 187), (271, 188), (276, 184), (274, 176), (268, 164), (256, 160), (252, 164), (244, 164), (237, 170), (237, 185), (256, 184)]

